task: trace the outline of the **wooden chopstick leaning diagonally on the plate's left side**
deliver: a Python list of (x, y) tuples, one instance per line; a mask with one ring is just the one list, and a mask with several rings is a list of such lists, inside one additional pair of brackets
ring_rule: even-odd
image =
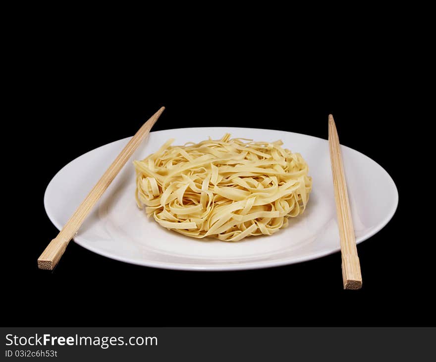
[(112, 182), (115, 176), (118, 175), (119, 171), (132, 156), (133, 152), (138, 148), (142, 140), (147, 137), (150, 129), (161, 116), (164, 109), (165, 107), (161, 107), (161, 109), (145, 122), (142, 127), (139, 128), (138, 132), (136, 132), (136, 134), (130, 139), (127, 145), (109, 166), (108, 170), (106, 170), (101, 179), (64, 225), (57, 237), (47, 245), (46, 249), (38, 258), (38, 268), (48, 270), (54, 269), (65, 251), (68, 242), (75, 236), (92, 207), (109, 187), (110, 182)]

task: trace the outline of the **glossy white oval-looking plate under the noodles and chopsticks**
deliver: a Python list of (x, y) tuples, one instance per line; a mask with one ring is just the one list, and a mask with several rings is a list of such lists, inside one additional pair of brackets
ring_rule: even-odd
[[(232, 137), (258, 141), (281, 139), (284, 147), (300, 152), (313, 177), (307, 210), (289, 227), (272, 236), (238, 242), (194, 239), (166, 230), (148, 219), (135, 203), (133, 159), (156, 152), (169, 138), (174, 144)], [(99, 180), (129, 138), (96, 148), (71, 161), (49, 183), (44, 205), (60, 229)], [(375, 161), (341, 146), (357, 242), (377, 233), (392, 218), (398, 204), (395, 183)], [(340, 249), (336, 223), (328, 142), (304, 134), (269, 129), (202, 127), (151, 132), (94, 207), (74, 239), (109, 258), (168, 269), (237, 270), (264, 268), (315, 259)]]

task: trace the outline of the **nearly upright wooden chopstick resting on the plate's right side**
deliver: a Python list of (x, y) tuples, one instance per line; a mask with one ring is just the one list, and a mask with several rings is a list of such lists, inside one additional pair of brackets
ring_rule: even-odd
[(360, 272), (359, 256), (357, 255), (350, 203), (348, 202), (339, 137), (332, 115), (328, 115), (328, 145), (330, 148), (331, 173), (333, 174), (334, 198), (336, 201), (337, 224), (340, 236), (344, 289), (360, 289), (362, 288), (362, 274)]

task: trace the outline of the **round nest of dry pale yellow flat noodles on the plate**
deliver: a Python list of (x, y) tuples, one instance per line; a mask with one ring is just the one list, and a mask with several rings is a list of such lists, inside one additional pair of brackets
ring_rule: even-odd
[(228, 133), (184, 146), (173, 141), (134, 161), (137, 204), (164, 228), (239, 241), (271, 235), (305, 210), (309, 168), (281, 141), (230, 139)]

